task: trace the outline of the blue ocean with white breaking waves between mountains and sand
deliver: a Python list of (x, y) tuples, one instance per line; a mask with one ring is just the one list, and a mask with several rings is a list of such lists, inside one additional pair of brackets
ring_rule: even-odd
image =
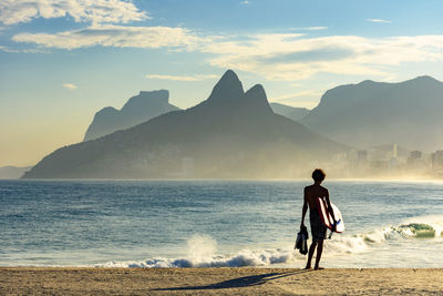
[[(303, 267), (310, 183), (0, 181), (0, 266)], [(322, 266), (443, 266), (443, 182), (323, 185), (347, 228)]]

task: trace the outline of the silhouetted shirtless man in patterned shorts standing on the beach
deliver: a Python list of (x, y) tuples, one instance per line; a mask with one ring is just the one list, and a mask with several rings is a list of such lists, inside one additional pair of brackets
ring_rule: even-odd
[(316, 256), (316, 265), (313, 268), (316, 271), (323, 269), (322, 267), (320, 267), (319, 264), (320, 264), (321, 253), (323, 251), (323, 241), (326, 239), (327, 227), (323, 225), (318, 211), (318, 205), (317, 205), (318, 197), (326, 198), (326, 202), (328, 204), (328, 211), (333, 218), (333, 225), (337, 224), (331, 207), (331, 203), (329, 201), (329, 192), (327, 188), (320, 185), (321, 182), (323, 182), (324, 177), (326, 177), (324, 172), (320, 169), (317, 169), (312, 172), (313, 184), (305, 187), (305, 197), (303, 197), (305, 202), (303, 202), (303, 210), (301, 213), (301, 226), (305, 226), (305, 216), (309, 206), (309, 221), (311, 224), (311, 234), (312, 234), (312, 244), (309, 247), (308, 263), (306, 264), (306, 269), (311, 268), (311, 261), (316, 247), (317, 247), (317, 256)]

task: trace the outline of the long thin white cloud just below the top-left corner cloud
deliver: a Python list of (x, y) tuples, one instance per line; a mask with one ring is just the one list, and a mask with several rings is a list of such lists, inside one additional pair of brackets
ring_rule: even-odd
[(187, 48), (193, 49), (209, 38), (197, 37), (185, 28), (91, 25), (86, 29), (50, 33), (19, 33), (13, 41), (35, 43), (45, 48), (79, 49), (87, 47), (114, 48)]

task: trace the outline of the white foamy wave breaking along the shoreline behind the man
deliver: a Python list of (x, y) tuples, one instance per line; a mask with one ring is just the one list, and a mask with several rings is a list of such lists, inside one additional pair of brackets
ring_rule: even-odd
[[(353, 236), (333, 235), (324, 243), (324, 256), (357, 254), (373, 245), (393, 239), (434, 238), (443, 236), (443, 216), (418, 217), (396, 226)], [(207, 235), (188, 239), (188, 255), (181, 258), (148, 258), (138, 262), (107, 262), (97, 267), (243, 267), (290, 264), (305, 261), (291, 246), (286, 248), (243, 249), (234, 255), (217, 255), (217, 242)]]

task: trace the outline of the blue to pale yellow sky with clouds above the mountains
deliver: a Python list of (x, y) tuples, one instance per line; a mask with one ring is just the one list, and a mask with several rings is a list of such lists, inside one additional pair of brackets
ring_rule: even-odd
[(186, 109), (227, 70), (312, 109), (362, 80), (443, 80), (441, 0), (2, 0), (0, 166), (81, 142), (141, 90)]

